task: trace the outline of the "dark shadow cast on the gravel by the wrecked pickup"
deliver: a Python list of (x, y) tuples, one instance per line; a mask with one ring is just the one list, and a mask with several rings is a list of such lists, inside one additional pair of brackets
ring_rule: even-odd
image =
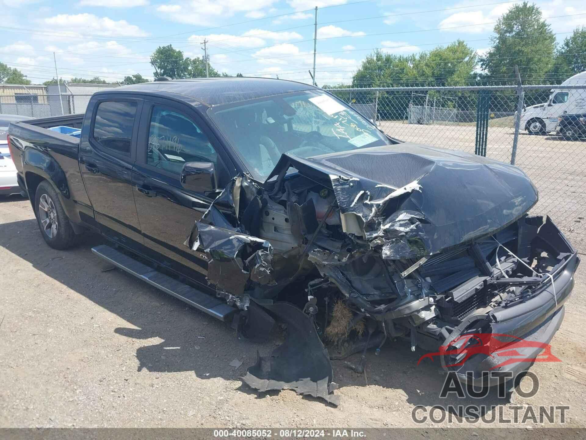
[[(230, 323), (222, 323), (188, 307), (121, 270), (108, 270), (112, 266), (91, 252), (93, 246), (103, 242), (100, 236), (87, 234), (76, 248), (56, 251), (43, 241), (35, 219), (0, 224), (0, 247), (127, 321), (128, 326), (113, 326), (111, 331), (137, 341), (130, 346), (124, 344), (122, 348), (134, 350), (138, 346), (135, 356), (139, 372), (194, 371), (197, 378), (236, 380), (255, 363), (257, 353), (267, 356), (282, 342), (283, 334), (279, 330), (264, 342), (239, 340)], [(18, 268), (15, 268), (15, 276), (18, 276)], [(103, 321), (100, 324), (104, 326)], [(117, 337), (114, 334), (113, 339)], [(149, 341), (155, 338), (158, 340)], [(367, 353), (366, 374), (354, 373), (343, 361), (332, 361), (334, 381), (342, 394), (345, 387), (382, 387), (393, 390), (393, 397), (397, 399), (425, 407), (470, 404), (490, 407), (508, 402), (499, 399), (492, 389), (481, 399), (460, 399), (453, 394), (440, 398), (445, 376), (439, 373), (441, 367), (437, 361), (425, 360), (417, 365), (424, 353), (421, 350), (411, 352), (408, 342), (402, 340), (387, 341), (380, 356), (374, 356), (373, 350)], [(357, 364), (359, 358), (360, 353), (346, 360)], [(242, 362), (240, 367), (229, 365), (235, 359)], [(244, 384), (238, 390), (258, 398), (278, 394), (278, 391), (257, 393)]]

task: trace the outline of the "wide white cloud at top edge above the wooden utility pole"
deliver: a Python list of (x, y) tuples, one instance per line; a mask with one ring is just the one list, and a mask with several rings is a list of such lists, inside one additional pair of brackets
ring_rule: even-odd
[(275, 2), (277, 0), (180, 0), (159, 5), (156, 11), (171, 21), (205, 26), (210, 22), (224, 21), (239, 12), (260, 14), (262, 9)]

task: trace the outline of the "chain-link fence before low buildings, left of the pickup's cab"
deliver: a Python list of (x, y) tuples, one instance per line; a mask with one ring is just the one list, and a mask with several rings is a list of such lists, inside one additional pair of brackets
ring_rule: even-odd
[(91, 94), (13, 94), (0, 95), (0, 114), (20, 114), (32, 118), (85, 113)]

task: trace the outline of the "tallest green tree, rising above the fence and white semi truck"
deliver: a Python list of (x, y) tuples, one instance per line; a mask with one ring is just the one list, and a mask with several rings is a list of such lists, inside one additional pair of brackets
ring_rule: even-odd
[(515, 65), (524, 83), (543, 82), (551, 70), (556, 37), (534, 4), (512, 6), (495, 25), (492, 48), (481, 59), (491, 80), (515, 81)]

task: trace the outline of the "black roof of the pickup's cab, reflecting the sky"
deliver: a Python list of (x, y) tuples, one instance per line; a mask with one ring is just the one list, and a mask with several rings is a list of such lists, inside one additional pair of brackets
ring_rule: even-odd
[(219, 77), (193, 78), (132, 84), (98, 93), (126, 91), (178, 93), (209, 106), (257, 99), (275, 94), (317, 89), (305, 83), (272, 78)]

